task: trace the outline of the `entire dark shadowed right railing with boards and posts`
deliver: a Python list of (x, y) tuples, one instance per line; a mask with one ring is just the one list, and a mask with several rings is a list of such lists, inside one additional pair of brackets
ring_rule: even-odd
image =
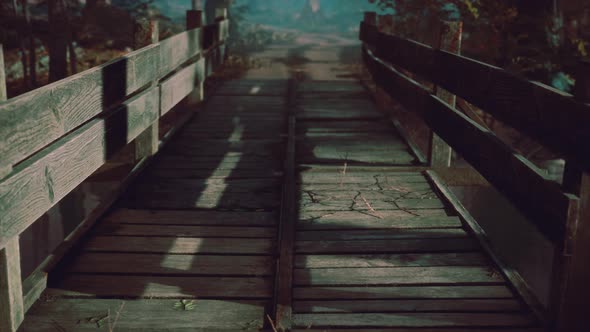
[[(525, 300), (539, 309), (551, 329), (585, 330), (583, 308), (590, 298), (590, 105), (584, 100), (590, 97), (588, 73), (580, 75), (579, 93), (574, 97), (388, 32), (377, 27), (375, 13), (366, 13), (360, 39), (373, 80), (404, 108), (417, 113), (555, 245), (549, 307), (539, 309), (533, 299)], [(408, 72), (563, 156), (563, 185), (546, 179), (493, 132), (441, 99), (426, 83), (409, 77)]]

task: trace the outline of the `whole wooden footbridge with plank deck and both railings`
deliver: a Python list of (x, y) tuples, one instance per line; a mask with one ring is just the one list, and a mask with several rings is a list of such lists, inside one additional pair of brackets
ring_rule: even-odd
[[(429, 165), (361, 82), (234, 80), (196, 103), (228, 31), (225, 16), (200, 17), (0, 104), (0, 330), (586, 331), (583, 100), (380, 31), (367, 13), (367, 68), (436, 133)], [(563, 184), (450, 93), (563, 155)], [(548, 305), (437, 175), (445, 142), (555, 244)], [(120, 195), (21, 276), (19, 235), (130, 143)]]

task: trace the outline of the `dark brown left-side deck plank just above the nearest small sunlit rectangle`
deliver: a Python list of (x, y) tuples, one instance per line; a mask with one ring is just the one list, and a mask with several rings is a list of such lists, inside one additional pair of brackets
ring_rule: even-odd
[(103, 224), (95, 231), (100, 235), (119, 236), (159, 236), (159, 237), (197, 237), (197, 238), (272, 238), (276, 229), (271, 227), (235, 226), (175, 226), (175, 225), (127, 225)]

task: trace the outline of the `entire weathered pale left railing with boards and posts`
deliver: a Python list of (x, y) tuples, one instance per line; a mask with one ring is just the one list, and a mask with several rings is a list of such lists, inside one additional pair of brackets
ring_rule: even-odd
[(194, 7), (187, 31), (162, 41), (145, 22), (136, 44), (147, 46), (7, 101), (0, 66), (0, 331), (16, 331), (46, 285), (43, 271), (23, 292), (20, 234), (126, 145), (136, 161), (157, 152), (160, 117), (203, 98), (223, 62), (225, 13), (201, 26)]

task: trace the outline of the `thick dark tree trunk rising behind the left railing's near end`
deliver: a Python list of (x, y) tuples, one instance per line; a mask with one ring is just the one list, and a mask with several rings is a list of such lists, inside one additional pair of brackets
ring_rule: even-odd
[(62, 0), (48, 0), (49, 5), (49, 82), (68, 76), (68, 21)]

